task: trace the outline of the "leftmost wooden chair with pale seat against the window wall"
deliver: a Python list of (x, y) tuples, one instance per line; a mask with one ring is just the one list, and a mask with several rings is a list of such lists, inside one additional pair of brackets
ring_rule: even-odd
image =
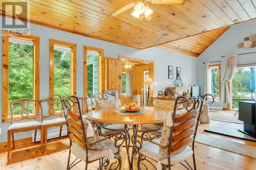
[[(41, 131), (41, 149), (43, 150), (44, 141), (44, 124), (37, 121), (38, 119), (38, 101), (31, 99), (20, 99), (10, 102), (11, 126), (7, 130), (8, 141), (8, 158), (11, 152), (11, 136), (12, 147), (15, 148), (14, 133), (27, 132), (35, 130), (34, 142), (36, 141), (37, 129)], [(33, 121), (28, 121), (33, 120)], [(23, 121), (23, 122), (20, 122)], [(26, 121), (26, 122), (25, 122)]]

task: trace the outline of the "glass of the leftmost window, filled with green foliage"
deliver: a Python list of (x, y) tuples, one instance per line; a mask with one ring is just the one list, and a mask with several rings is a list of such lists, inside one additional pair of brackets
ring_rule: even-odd
[[(22, 98), (33, 99), (33, 45), (9, 42), (9, 102)], [(14, 114), (22, 110), (13, 107)]]

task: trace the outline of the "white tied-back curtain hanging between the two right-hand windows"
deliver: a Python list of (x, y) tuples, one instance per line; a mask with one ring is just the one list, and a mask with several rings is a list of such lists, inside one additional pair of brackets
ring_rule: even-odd
[(225, 67), (221, 81), (221, 96), (224, 104), (230, 103), (230, 94), (227, 82), (232, 81), (234, 78), (234, 71), (237, 68), (238, 55), (228, 55), (225, 57)]

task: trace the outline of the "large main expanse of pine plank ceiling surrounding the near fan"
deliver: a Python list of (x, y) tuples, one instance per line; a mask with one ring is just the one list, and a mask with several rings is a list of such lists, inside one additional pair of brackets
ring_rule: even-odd
[[(133, 8), (117, 17), (110, 16), (115, 10), (134, 2), (133, 0), (30, 0), (28, 2), (31, 23), (139, 49), (227, 27), (256, 17), (254, 0), (187, 0), (183, 6), (148, 3), (154, 10), (153, 19), (150, 21), (133, 17), (131, 15)], [(2, 12), (11, 16), (11, 9), (7, 8)], [(220, 32), (207, 34), (211, 36)], [(203, 37), (196, 42), (195, 38), (188, 41), (205, 43), (207, 46), (208, 43), (204, 42), (207, 40)], [(173, 49), (169, 43), (164, 46)], [(180, 47), (183, 48), (182, 45)], [(193, 55), (198, 56), (200, 52), (200, 50), (195, 51)]]

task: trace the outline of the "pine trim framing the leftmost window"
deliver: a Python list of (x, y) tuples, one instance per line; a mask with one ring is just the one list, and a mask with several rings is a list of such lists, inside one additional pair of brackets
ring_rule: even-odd
[[(11, 122), (9, 117), (9, 37), (34, 41), (33, 48), (33, 99), (39, 100), (39, 37), (33, 35), (18, 35), (16, 33), (3, 36), (3, 85), (2, 85), (2, 122)], [(35, 111), (35, 110), (34, 110)], [(39, 107), (36, 110), (39, 111)], [(17, 116), (21, 117), (21, 116)], [(29, 116), (30, 117), (30, 116)]]

